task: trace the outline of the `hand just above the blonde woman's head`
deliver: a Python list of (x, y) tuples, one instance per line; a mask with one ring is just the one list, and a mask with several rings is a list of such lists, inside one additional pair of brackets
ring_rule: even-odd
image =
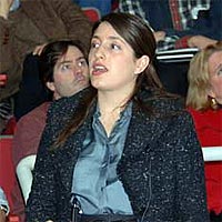
[(218, 41), (203, 36), (194, 36), (188, 40), (190, 48), (205, 49), (209, 44), (215, 44)]

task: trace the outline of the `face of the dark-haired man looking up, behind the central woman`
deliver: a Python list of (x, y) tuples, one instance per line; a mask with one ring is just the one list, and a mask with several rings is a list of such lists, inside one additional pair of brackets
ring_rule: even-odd
[(89, 85), (89, 68), (83, 53), (73, 46), (68, 48), (53, 70), (53, 82), (47, 85), (54, 92), (54, 99), (71, 97)]

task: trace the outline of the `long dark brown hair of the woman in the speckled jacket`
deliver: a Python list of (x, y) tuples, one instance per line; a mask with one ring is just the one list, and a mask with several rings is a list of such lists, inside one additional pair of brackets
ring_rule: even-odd
[[(147, 107), (143, 105), (142, 100), (140, 100), (138, 97), (138, 92), (142, 91), (143, 89), (150, 89), (159, 92), (159, 94), (163, 93), (162, 84), (152, 64), (155, 58), (157, 43), (151, 29), (142, 19), (129, 13), (118, 12), (107, 14), (100, 21), (94, 23), (92, 36), (102, 22), (109, 22), (112, 28), (131, 46), (137, 59), (144, 54), (150, 58), (150, 64), (142, 73), (139, 74), (134, 90), (129, 100), (133, 100), (141, 109), (148, 110)], [(60, 133), (54, 143), (56, 147), (61, 145), (68, 139), (68, 137), (74, 133), (83, 123), (95, 98), (97, 90), (91, 89), (89, 97), (85, 97), (84, 101), (81, 102), (82, 105), (78, 108), (79, 111), (77, 114), (72, 118), (69, 125), (67, 125), (65, 129)]]

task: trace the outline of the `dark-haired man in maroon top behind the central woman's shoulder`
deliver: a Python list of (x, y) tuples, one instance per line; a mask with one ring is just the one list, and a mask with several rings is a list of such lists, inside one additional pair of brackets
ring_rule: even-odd
[[(47, 44), (40, 56), (40, 78), (52, 94), (52, 100), (70, 97), (89, 85), (88, 50), (79, 42), (56, 41)], [(13, 139), (12, 155), (19, 188), (14, 189), (14, 209), (12, 212), (24, 221), (24, 203), (32, 183), (32, 170), (40, 138), (46, 125), (50, 102), (44, 102), (23, 115), (18, 124)]]

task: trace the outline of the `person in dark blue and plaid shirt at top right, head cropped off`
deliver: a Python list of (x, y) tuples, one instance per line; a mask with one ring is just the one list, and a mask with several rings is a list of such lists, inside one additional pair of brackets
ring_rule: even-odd
[[(120, 0), (119, 9), (143, 18), (153, 29), (158, 51), (199, 48), (222, 40), (222, 1)], [(157, 61), (163, 85), (183, 97), (188, 91), (189, 62)]]

